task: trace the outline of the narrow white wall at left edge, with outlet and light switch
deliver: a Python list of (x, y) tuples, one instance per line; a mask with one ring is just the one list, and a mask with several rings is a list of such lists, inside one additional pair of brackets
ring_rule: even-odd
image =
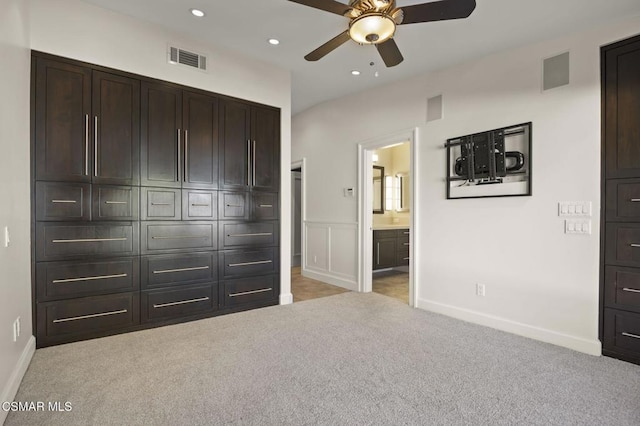
[[(0, 403), (11, 401), (35, 349), (31, 338), (29, 230), (29, 14), (0, 1)], [(4, 247), (4, 227), (11, 245)], [(13, 322), (21, 335), (13, 342)], [(0, 410), (0, 424), (6, 412)]]

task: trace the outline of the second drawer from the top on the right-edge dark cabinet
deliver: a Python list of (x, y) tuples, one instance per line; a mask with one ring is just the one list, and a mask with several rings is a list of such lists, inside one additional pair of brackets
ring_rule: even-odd
[(605, 261), (619, 266), (640, 266), (640, 223), (606, 225)]

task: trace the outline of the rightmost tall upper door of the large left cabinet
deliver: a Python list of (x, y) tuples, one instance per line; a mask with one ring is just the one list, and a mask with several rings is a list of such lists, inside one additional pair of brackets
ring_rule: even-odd
[(252, 108), (251, 186), (278, 191), (280, 186), (280, 113)]

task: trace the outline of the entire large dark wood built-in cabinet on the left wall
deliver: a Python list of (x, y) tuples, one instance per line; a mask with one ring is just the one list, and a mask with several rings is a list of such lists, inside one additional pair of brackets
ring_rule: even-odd
[(32, 63), (38, 347), (279, 302), (278, 109)]

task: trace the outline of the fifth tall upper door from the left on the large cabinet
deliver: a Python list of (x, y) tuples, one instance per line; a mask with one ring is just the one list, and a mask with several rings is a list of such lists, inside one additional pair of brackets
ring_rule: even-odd
[(240, 102), (221, 102), (220, 187), (248, 189), (251, 180), (251, 108)]

